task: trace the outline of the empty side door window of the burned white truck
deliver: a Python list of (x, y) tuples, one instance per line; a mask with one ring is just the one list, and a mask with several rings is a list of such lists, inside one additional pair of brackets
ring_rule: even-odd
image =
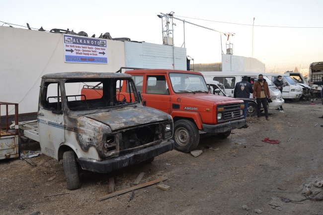
[(62, 99), (58, 82), (46, 82), (42, 93), (42, 104), (48, 110), (62, 110)]

